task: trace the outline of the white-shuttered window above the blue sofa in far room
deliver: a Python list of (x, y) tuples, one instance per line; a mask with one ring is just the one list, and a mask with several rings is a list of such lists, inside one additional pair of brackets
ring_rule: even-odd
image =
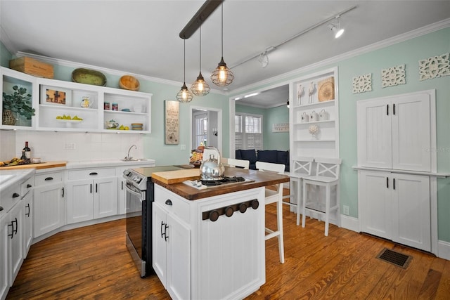
[(235, 147), (238, 149), (262, 150), (262, 116), (236, 113)]

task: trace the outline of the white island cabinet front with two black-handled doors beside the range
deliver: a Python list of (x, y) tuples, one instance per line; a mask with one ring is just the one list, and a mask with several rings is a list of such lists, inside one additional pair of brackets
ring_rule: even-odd
[(177, 215), (187, 204), (179, 196), (155, 193), (153, 268), (172, 299), (191, 299), (191, 228)]

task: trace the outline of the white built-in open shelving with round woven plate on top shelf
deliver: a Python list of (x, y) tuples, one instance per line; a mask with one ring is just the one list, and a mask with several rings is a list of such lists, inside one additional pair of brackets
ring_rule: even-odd
[(296, 79), (291, 85), (291, 161), (293, 157), (339, 157), (338, 69)]

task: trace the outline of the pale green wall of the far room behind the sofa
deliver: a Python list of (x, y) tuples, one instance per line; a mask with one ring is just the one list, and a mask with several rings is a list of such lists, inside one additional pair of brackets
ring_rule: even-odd
[(285, 105), (274, 108), (258, 108), (236, 105), (236, 112), (263, 116), (263, 149), (289, 150), (289, 132), (272, 132), (272, 124), (289, 123), (289, 110)]

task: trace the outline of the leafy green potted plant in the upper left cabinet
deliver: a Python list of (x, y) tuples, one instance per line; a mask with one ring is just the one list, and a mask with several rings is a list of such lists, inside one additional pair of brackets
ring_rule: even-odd
[(3, 93), (3, 124), (14, 125), (15, 115), (22, 115), (30, 120), (34, 116), (34, 108), (31, 106), (31, 94), (23, 87), (13, 86), (14, 93)]

